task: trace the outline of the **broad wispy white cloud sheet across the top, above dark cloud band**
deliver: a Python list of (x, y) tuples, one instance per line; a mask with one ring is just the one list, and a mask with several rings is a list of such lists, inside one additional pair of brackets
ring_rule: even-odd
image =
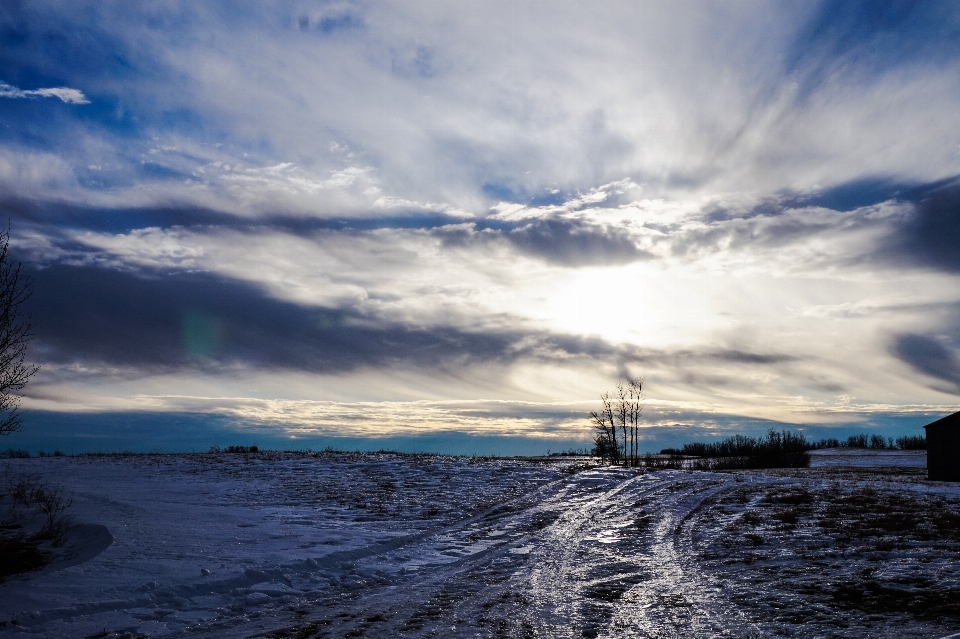
[[(496, 2), (173, 2), (143, 14), (38, 2), (9, 10), (0, 62), (21, 85), (90, 87), (102, 108), (33, 127), (31, 143), (75, 167), (125, 167), (126, 184), (91, 177), (86, 196), (155, 206), (175, 193), (247, 214), (276, 201), (337, 215), (383, 198), (482, 215), (505, 192), (541, 197), (625, 177), (651, 198), (696, 198), (957, 172), (949, 3), (849, 4), (573, 3), (548, 17)], [(141, 163), (154, 139), (219, 145), (230, 175), (186, 188), (197, 166)], [(281, 164), (300, 173), (235, 170)], [(317, 188), (366, 169), (348, 199)], [(367, 199), (368, 189), (381, 192)]]

